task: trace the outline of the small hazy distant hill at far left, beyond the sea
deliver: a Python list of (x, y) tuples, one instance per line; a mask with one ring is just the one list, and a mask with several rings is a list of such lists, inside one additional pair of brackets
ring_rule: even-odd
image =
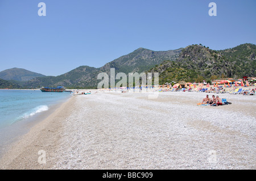
[(30, 79), (33, 79), (35, 77), (44, 77), (46, 75), (38, 74), (32, 71), (28, 71), (26, 69), (19, 69), (19, 68), (13, 68), (13, 69), (6, 69), (0, 72), (0, 78), (10, 81), (29, 81)]

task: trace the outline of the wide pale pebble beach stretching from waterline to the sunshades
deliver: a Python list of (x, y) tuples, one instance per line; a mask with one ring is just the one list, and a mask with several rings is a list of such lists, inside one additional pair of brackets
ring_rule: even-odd
[(256, 96), (217, 94), (232, 104), (210, 107), (197, 105), (206, 93), (150, 94), (72, 96), (12, 146), (0, 169), (256, 169)]

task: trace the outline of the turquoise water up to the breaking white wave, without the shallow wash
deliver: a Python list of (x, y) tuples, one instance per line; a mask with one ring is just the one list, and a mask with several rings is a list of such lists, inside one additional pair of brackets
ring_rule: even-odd
[(51, 106), (70, 96), (69, 92), (0, 90), (0, 128), (48, 111)]

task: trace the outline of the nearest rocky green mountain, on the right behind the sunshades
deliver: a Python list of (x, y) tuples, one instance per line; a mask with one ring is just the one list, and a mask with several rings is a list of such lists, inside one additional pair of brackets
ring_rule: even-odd
[(212, 50), (203, 45), (185, 47), (176, 61), (164, 61), (148, 72), (159, 72), (159, 83), (202, 82), (216, 78), (254, 77), (256, 45), (242, 44), (232, 49)]

